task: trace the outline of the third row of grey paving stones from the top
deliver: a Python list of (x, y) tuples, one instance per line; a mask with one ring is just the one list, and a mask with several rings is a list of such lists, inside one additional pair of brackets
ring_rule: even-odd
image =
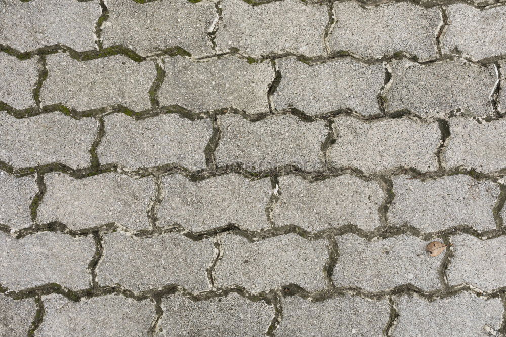
[[(330, 130), (323, 119), (309, 122), (276, 114), (251, 121), (228, 113), (217, 116), (219, 137), (213, 137), (212, 119), (160, 114), (135, 120), (113, 113), (104, 117), (105, 132), (95, 152), (101, 164), (114, 163), (125, 170), (168, 164), (202, 170), (207, 167), (206, 153), (208, 164), (242, 163), (256, 172), (288, 164), (310, 172), (346, 167), (366, 174), (399, 167), (430, 172), (441, 166), (438, 157), (448, 169), (493, 173), (506, 168), (502, 118), (476, 122), (454, 117), (446, 124), (408, 117), (368, 122), (340, 115), (330, 118)], [(89, 167), (98, 130), (91, 117), (74, 119), (54, 112), (17, 119), (0, 112), (0, 160), (15, 170), (55, 162), (71, 169)], [(441, 154), (442, 137), (446, 139)]]

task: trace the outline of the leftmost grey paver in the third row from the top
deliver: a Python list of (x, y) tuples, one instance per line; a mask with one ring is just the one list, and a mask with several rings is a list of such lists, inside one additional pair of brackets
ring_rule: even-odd
[(96, 134), (93, 118), (77, 120), (54, 112), (16, 119), (0, 111), (0, 160), (14, 168), (54, 162), (87, 167)]

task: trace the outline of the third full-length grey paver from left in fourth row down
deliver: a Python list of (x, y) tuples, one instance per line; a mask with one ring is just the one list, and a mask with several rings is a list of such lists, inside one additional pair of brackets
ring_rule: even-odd
[(385, 194), (377, 182), (351, 175), (316, 182), (293, 175), (278, 180), (281, 196), (272, 212), (277, 226), (319, 231), (354, 224), (369, 231), (381, 225), (378, 209)]

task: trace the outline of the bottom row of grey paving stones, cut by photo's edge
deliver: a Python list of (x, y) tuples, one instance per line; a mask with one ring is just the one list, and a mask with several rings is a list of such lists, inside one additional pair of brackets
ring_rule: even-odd
[[(163, 297), (158, 320), (152, 300), (135, 301), (121, 295), (105, 295), (71, 301), (58, 294), (41, 297), (45, 315), (36, 336), (89, 335), (146, 336), (259, 336), (273, 325), (275, 308), (265, 301), (251, 301), (237, 293), (194, 302), (180, 294)], [(498, 298), (484, 299), (461, 292), (429, 302), (412, 296), (393, 298), (398, 317), (392, 335), (489, 335), (501, 327), (503, 305)], [(24, 335), (37, 307), (33, 299), (12, 300), (0, 294), (0, 333)], [(382, 335), (390, 322), (388, 300), (339, 296), (312, 302), (297, 296), (283, 297), (278, 304), (281, 319), (277, 336)], [(156, 319), (155, 319), (156, 317)], [(462, 320), (462, 317), (466, 317)], [(100, 324), (97, 324), (100, 322)]]

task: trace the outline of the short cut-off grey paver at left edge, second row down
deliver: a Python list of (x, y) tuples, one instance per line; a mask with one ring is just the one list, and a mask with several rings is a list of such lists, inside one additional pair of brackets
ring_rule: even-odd
[(0, 102), (14, 109), (34, 107), (33, 88), (37, 83), (37, 67), (35, 57), (19, 60), (0, 53)]

